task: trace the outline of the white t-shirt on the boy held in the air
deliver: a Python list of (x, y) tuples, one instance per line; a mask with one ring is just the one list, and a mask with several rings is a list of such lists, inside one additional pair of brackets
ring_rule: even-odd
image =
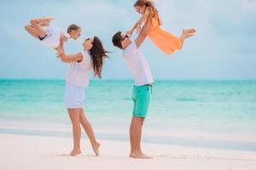
[(59, 46), (61, 33), (67, 37), (67, 40), (70, 39), (70, 36), (67, 32), (61, 31), (54, 26), (46, 26), (44, 27), (44, 31), (46, 31), (47, 36), (41, 42), (49, 48), (57, 48)]

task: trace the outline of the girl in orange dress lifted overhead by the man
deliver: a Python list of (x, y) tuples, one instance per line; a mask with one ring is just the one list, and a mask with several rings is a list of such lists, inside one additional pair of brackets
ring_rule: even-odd
[(154, 3), (151, 0), (137, 0), (134, 4), (134, 8), (136, 8), (137, 13), (142, 14), (143, 16), (137, 21), (130, 31), (126, 32), (126, 34), (131, 36), (133, 31), (136, 29), (137, 32), (140, 31), (142, 24), (145, 24), (145, 21), (148, 18), (149, 9), (151, 9), (154, 15), (150, 22), (148, 37), (152, 42), (154, 42), (154, 45), (160, 48), (160, 50), (165, 54), (173, 54), (176, 50), (181, 49), (183, 47), (184, 40), (195, 35), (195, 29), (183, 30), (180, 37), (175, 37), (171, 33), (161, 29), (158, 10), (155, 8)]

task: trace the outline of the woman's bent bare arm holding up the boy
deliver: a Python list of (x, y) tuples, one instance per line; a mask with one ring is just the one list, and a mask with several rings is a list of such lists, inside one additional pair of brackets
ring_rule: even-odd
[(83, 55), (81, 53), (67, 55), (64, 49), (64, 41), (61, 41), (60, 48), (57, 48), (57, 51), (58, 51), (57, 55), (60, 57), (61, 61), (64, 63), (71, 63), (73, 61), (83, 60)]

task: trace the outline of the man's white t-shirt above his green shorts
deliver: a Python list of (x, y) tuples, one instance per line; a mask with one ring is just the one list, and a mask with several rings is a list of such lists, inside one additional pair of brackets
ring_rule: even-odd
[(131, 44), (124, 49), (123, 58), (131, 71), (136, 86), (143, 86), (154, 82), (148, 61), (137, 48), (136, 42), (131, 42)]

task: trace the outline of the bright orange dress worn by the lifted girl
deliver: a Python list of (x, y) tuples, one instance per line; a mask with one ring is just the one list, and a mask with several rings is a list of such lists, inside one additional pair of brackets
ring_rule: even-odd
[(154, 45), (160, 48), (160, 50), (165, 54), (173, 54), (175, 50), (180, 49), (182, 46), (178, 37), (175, 37), (169, 32), (161, 29), (156, 17), (151, 19), (148, 37), (152, 42), (154, 42)]

